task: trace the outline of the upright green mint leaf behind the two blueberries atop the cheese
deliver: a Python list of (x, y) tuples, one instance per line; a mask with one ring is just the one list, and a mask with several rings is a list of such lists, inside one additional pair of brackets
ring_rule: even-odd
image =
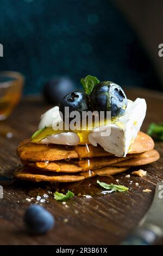
[(82, 83), (82, 86), (85, 90), (85, 93), (90, 95), (90, 93), (93, 90), (93, 87), (96, 86), (97, 83), (99, 83), (99, 80), (96, 76), (86, 76), (85, 78), (81, 78), (80, 82)]

